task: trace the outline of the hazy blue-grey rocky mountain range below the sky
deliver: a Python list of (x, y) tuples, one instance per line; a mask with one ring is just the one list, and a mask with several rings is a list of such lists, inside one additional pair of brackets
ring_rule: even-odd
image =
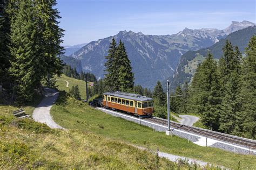
[[(181, 55), (209, 47), (227, 37), (231, 32), (255, 25), (254, 23), (232, 22), (224, 30), (188, 29), (166, 36), (145, 35), (142, 32), (120, 31), (115, 36), (92, 41), (70, 57), (80, 61), (84, 72), (91, 72), (98, 79), (104, 77), (105, 56), (112, 38), (122, 40), (131, 61), (135, 83), (152, 88), (158, 80), (172, 77)], [(71, 60), (70, 60), (71, 61)], [(70, 64), (70, 63), (68, 63)]]

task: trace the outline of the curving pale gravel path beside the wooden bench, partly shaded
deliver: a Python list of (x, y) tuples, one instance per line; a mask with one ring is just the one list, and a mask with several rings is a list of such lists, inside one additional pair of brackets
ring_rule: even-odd
[(54, 104), (57, 100), (59, 92), (57, 90), (49, 88), (44, 88), (44, 90), (46, 92), (45, 97), (43, 98), (42, 102), (37, 106), (37, 108), (33, 111), (33, 119), (36, 122), (45, 123), (53, 129), (64, 129), (62, 128), (62, 126), (59, 126), (57, 123), (55, 123), (50, 115), (52, 104)]

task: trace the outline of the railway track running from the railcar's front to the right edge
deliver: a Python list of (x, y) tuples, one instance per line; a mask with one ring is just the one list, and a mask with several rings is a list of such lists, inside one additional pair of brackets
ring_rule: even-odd
[[(156, 124), (160, 124), (160, 125), (164, 125), (164, 126), (168, 125), (168, 121), (165, 119), (158, 119), (158, 118), (154, 118), (154, 117), (153, 118), (145, 118), (145, 119), (152, 123), (156, 123)], [(177, 122), (172, 122), (172, 121), (170, 121), (170, 126), (173, 130), (175, 130), (175, 129), (183, 130), (183, 131), (190, 132), (193, 134), (198, 134), (199, 136), (203, 136), (203, 137), (207, 137), (207, 138), (211, 138), (211, 139), (215, 139), (215, 140), (219, 140), (219, 141), (224, 141), (226, 143), (250, 148), (251, 150), (256, 149), (256, 141), (255, 140), (253, 141), (251, 139), (242, 139), (240, 137), (231, 136), (229, 134), (214, 132), (214, 131), (210, 131), (210, 130), (204, 130), (204, 129), (196, 128), (193, 126), (187, 126), (187, 125), (183, 125), (183, 124), (180, 124)]]

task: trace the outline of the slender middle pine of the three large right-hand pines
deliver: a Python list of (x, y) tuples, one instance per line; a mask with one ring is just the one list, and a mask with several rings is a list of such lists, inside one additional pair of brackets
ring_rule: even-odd
[(238, 134), (241, 131), (239, 100), (239, 81), (241, 73), (241, 53), (238, 47), (233, 49), (228, 40), (223, 48), (223, 58), (219, 63), (221, 90), (223, 98), (221, 102), (220, 127), (225, 133)]

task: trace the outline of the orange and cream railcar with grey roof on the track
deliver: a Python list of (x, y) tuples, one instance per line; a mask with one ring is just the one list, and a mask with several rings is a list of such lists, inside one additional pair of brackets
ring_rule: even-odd
[(116, 91), (103, 93), (103, 106), (129, 112), (140, 117), (152, 116), (153, 99), (150, 97)]

